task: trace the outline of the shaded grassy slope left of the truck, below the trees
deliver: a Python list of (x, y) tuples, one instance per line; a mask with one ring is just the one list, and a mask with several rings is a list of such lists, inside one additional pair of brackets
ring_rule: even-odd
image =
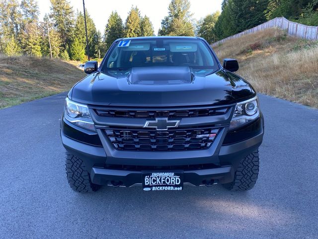
[(0, 56), (0, 108), (68, 91), (84, 76), (75, 63)]

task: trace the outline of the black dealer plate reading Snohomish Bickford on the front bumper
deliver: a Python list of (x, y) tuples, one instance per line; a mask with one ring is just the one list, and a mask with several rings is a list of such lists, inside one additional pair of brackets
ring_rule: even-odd
[(148, 172), (142, 174), (145, 191), (179, 191), (183, 189), (183, 173)]

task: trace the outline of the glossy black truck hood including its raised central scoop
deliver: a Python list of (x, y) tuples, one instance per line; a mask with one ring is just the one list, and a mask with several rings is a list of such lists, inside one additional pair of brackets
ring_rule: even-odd
[[(212, 71), (212, 70), (210, 70)], [(72, 100), (101, 106), (201, 106), (232, 104), (255, 95), (234, 73), (189, 67), (138, 67), (88, 75)]]

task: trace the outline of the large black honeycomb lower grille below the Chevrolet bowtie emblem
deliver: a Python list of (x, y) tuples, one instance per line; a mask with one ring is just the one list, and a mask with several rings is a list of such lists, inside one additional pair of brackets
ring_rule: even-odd
[(164, 131), (109, 128), (105, 132), (118, 150), (177, 151), (207, 149), (217, 136), (219, 128), (180, 128)]

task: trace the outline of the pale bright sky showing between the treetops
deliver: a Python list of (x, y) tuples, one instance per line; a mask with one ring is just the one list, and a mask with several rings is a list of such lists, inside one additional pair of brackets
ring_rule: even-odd
[[(40, 19), (43, 19), (45, 13), (50, 11), (50, 0), (37, 0), (40, 10)], [(168, 5), (171, 0), (85, 0), (85, 7), (89, 15), (93, 18), (97, 30), (104, 33), (110, 13), (114, 10), (121, 16), (125, 22), (128, 12), (132, 5), (137, 5), (141, 15), (145, 14), (152, 21), (155, 34), (161, 26), (161, 20), (168, 13)], [(70, 0), (75, 12), (83, 10), (82, 0)], [(221, 11), (222, 0), (190, 0), (190, 11), (193, 13), (193, 18), (199, 20), (207, 14), (217, 10)]]

